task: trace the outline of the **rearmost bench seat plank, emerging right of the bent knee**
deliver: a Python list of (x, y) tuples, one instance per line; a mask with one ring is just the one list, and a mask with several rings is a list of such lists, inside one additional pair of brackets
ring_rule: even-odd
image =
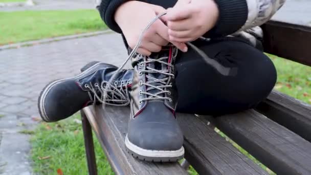
[(256, 110), (311, 142), (311, 105), (272, 91)]

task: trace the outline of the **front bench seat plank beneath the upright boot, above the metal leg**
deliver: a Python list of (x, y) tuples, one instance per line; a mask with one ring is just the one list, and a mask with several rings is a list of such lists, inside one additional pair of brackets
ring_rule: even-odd
[[(92, 110), (92, 111), (91, 111)], [(179, 163), (142, 162), (130, 156), (124, 148), (129, 119), (128, 107), (102, 106), (83, 108), (88, 121), (104, 149), (116, 174), (188, 174)], [(101, 174), (99, 172), (99, 174)]]

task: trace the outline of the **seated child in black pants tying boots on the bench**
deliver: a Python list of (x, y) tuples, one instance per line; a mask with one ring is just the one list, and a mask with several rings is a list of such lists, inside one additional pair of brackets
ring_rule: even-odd
[[(261, 49), (262, 31), (285, 0), (102, 0), (98, 9), (107, 26), (121, 33), (133, 49), (134, 69), (122, 70), (114, 84), (114, 65), (91, 62), (76, 77), (53, 81), (39, 97), (47, 122), (67, 118), (96, 101), (128, 105), (125, 146), (141, 160), (169, 162), (183, 158), (183, 134), (175, 111), (219, 116), (253, 108), (276, 82), (272, 61)], [(172, 7), (172, 8), (171, 8)], [(199, 37), (206, 39), (198, 39)], [(207, 39), (209, 38), (209, 39)], [(192, 43), (234, 75), (220, 74), (185, 42)], [(101, 98), (103, 91), (107, 99)], [(130, 94), (130, 96), (129, 96)]]

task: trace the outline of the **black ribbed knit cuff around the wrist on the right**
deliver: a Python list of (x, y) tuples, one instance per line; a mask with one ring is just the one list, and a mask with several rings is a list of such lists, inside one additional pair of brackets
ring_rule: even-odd
[(226, 36), (238, 31), (248, 18), (246, 0), (214, 0), (219, 9), (216, 25), (205, 37)]

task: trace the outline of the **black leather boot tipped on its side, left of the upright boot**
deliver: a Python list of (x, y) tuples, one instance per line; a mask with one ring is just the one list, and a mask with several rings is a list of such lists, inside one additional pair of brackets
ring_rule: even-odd
[(107, 99), (102, 101), (102, 93), (117, 69), (111, 64), (91, 62), (75, 77), (52, 81), (42, 90), (38, 99), (41, 118), (46, 122), (62, 120), (96, 100), (110, 105), (128, 105), (133, 70), (118, 73), (107, 90)]

